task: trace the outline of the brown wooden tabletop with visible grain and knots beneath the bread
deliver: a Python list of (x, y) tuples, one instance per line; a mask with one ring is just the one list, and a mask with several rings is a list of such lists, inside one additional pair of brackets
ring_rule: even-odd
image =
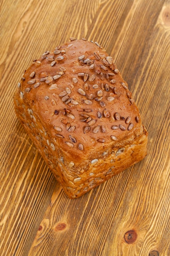
[[(113, 56), (148, 155), (70, 200), (26, 135), (13, 94), (33, 58), (69, 37)], [(0, 1), (0, 256), (170, 256), (170, 1)]]

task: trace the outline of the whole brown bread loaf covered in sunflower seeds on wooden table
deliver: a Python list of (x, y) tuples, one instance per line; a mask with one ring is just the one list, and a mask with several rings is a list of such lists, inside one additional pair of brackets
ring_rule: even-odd
[(77, 198), (146, 156), (147, 131), (113, 58), (76, 40), (24, 72), (15, 111), (57, 181)]

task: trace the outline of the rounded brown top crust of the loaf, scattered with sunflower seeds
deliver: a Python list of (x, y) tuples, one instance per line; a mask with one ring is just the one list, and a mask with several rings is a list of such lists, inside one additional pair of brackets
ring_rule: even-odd
[(77, 166), (143, 134), (127, 83), (97, 43), (73, 40), (44, 52), (18, 90), (55, 150)]

